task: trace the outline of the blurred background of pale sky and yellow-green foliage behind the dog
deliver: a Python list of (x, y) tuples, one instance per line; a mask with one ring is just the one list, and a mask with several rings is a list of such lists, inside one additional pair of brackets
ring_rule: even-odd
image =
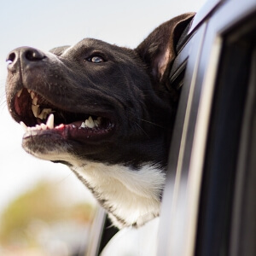
[(135, 48), (156, 26), (206, 0), (0, 0), (0, 255), (79, 255), (96, 202), (61, 164), (38, 160), (5, 102), (5, 62), (20, 46), (48, 50), (98, 38)]

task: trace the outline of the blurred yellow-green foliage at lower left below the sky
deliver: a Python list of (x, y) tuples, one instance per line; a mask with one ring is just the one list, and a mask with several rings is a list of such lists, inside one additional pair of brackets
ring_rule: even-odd
[(38, 183), (35, 188), (11, 202), (3, 212), (0, 226), (1, 243), (14, 241), (17, 236), (26, 239), (26, 229), (33, 220), (48, 224), (70, 218), (90, 221), (93, 207), (88, 204), (74, 206), (67, 201), (67, 195), (63, 195), (61, 189), (56, 189), (54, 183)]

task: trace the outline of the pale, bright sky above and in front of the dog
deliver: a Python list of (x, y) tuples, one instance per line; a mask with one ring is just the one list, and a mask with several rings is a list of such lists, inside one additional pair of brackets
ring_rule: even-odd
[(49, 50), (83, 38), (135, 48), (162, 22), (198, 11), (206, 0), (0, 0), (0, 213), (17, 195), (41, 180), (64, 185), (72, 200), (91, 200), (61, 164), (32, 157), (21, 148), (23, 131), (5, 102), (5, 61), (20, 46)]

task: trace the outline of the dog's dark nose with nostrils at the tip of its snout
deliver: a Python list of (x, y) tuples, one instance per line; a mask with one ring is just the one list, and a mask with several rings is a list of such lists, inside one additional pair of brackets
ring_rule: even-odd
[(13, 69), (18, 65), (17, 63), (19, 63), (19, 61), (22, 65), (29, 65), (33, 62), (42, 61), (44, 58), (44, 53), (38, 49), (20, 47), (12, 50), (6, 58), (6, 61), (9, 61), (8, 68)]

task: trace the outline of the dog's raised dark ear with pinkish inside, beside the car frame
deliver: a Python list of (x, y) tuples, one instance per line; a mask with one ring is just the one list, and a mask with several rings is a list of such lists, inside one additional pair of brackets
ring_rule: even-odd
[(143, 43), (137, 46), (137, 53), (148, 65), (154, 79), (161, 82), (170, 72), (176, 53), (178, 39), (195, 13), (179, 15), (168, 20), (151, 32)]

